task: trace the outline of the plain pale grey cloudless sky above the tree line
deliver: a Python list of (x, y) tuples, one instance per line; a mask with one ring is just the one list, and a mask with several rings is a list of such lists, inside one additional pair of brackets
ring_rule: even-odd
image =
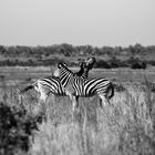
[(155, 44), (155, 0), (0, 0), (1, 45)]

